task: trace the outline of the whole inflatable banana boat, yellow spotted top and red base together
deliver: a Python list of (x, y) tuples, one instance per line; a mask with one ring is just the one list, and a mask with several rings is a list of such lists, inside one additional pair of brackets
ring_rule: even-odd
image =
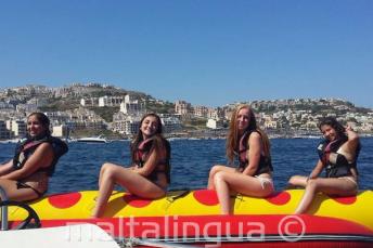
[[(266, 198), (232, 196), (232, 216), (219, 214), (216, 192), (208, 190), (175, 191), (154, 200), (114, 192), (101, 219), (90, 219), (97, 191), (50, 195), (30, 203), (29, 207), (37, 212), (43, 226), (77, 222), (101, 223), (105, 227), (112, 226), (107, 227), (107, 232), (115, 237), (171, 238), (176, 243), (182, 237), (182, 243), (185, 243), (184, 237), (188, 236), (189, 242), (195, 240), (194, 244), (206, 244), (214, 237), (219, 242), (226, 240), (226, 246), (234, 244), (232, 246), (237, 247), (253, 240), (256, 243), (258, 235), (261, 237), (262, 234), (266, 237), (263, 240), (273, 245), (278, 239), (284, 240), (281, 227), (285, 226), (287, 233), (303, 234), (303, 244), (307, 240), (314, 247), (329, 244), (333, 238), (346, 243), (353, 237), (353, 240), (364, 245), (362, 247), (369, 247), (365, 245), (373, 242), (372, 191), (362, 191), (349, 197), (318, 194), (307, 214), (292, 216), (303, 193), (303, 190), (288, 190)], [(25, 211), (14, 206), (9, 208), (10, 221), (17, 222), (25, 218)], [(290, 223), (284, 224), (284, 221)], [(211, 227), (211, 223), (220, 227)], [(301, 229), (296, 223), (300, 223)], [(253, 232), (257, 233), (252, 235)], [(231, 236), (241, 237), (242, 234), (245, 234), (244, 242), (227, 239)], [(208, 238), (202, 240), (201, 237), (206, 235)], [(316, 243), (316, 239), (322, 242)], [(332, 247), (336, 245), (336, 240), (333, 239)], [(286, 243), (286, 247), (288, 245), (291, 244)]]

